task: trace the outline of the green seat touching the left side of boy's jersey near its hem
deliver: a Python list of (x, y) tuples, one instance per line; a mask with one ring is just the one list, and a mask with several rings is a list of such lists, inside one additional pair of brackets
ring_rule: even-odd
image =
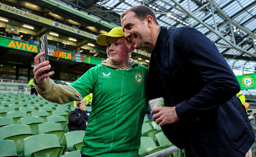
[(81, 130), (65, 133), (67, 150), (68, 151), (80, 150), (83, 145), (84, 135), (85, 135), (85, 132)]

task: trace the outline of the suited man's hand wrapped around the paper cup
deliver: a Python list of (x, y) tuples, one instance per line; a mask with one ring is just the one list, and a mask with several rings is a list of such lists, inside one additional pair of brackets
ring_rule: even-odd
[(151, 111), (151, 115), (153, 116), (153, 120), (156, 122), (156, 124), (160, 126), (175, 123), (179, 120), (175, 111), (175, 107), (154, 108)]

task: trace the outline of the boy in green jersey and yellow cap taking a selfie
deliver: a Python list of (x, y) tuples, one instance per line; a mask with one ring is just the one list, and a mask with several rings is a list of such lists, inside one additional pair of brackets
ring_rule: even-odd
[(145, 87), (148, 68), (130, 58), (134, 45), (121, 27), (101, 34), (97, 43), (107, 45), (108, 58), (70, 85), (54, 83), (43, 74), (49, 61), (34, 58), (34, 83), (39, 94), (54, 103), (82, 100), (93, 93), (92, 110), (81, 147), (81, 157), (136, 157), (147, 109)]

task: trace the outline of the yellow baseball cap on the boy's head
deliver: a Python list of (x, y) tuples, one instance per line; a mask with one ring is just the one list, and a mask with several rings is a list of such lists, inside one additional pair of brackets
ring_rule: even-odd
[(122, 27), (115, 27), (108, 34), (100, 34), (97, 38), (97, 44), (106, 45), (107, 37), (124, 37), (124, 32)]

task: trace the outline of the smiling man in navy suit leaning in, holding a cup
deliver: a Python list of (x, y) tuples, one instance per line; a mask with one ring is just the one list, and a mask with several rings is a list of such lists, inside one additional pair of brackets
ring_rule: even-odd
[(135, 49), (152, 49), (147, 94), (164, 98), (151, 115), (166, 137), (186, 157), (244, 157), (255, 135), (215, 44), (194, 28), (161, 27), (147, 6), (122, 13), (121, 25)]

